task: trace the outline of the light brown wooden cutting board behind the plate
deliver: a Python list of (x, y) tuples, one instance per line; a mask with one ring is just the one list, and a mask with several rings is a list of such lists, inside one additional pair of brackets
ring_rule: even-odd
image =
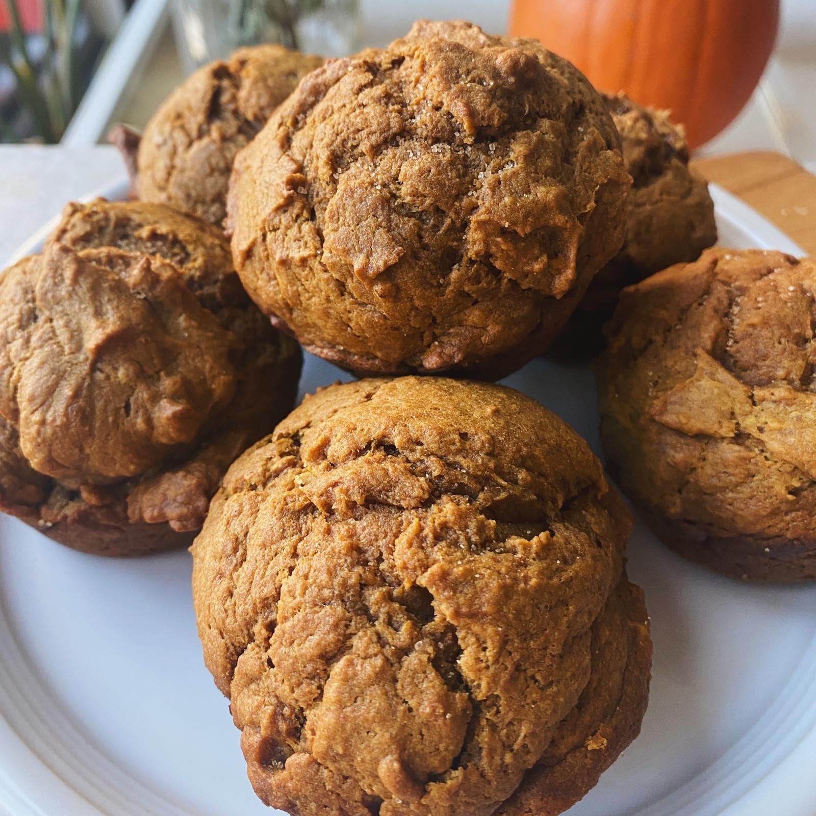
[(764, 151), (698, 158), (692, 164), (816, 255), (816, 175), (781, 153)]

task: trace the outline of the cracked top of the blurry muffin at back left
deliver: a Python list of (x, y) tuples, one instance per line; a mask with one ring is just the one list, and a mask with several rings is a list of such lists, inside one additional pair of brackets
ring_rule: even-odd
[(145, 128), (136, 162), (139, 197), (221, 224), (236, 153), (322, 63), (322, 57), (262, 45), (198, 69)]

